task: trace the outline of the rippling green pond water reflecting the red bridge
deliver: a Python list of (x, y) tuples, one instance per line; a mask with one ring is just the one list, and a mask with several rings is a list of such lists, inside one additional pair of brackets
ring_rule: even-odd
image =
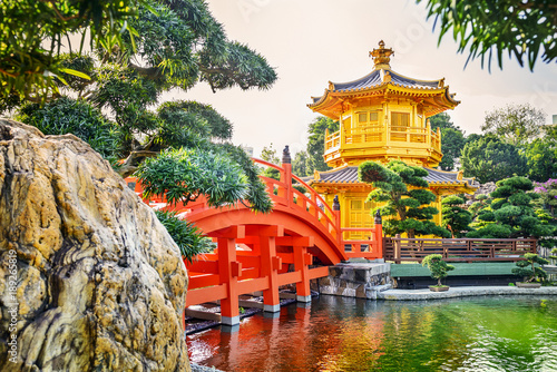
[(322, 295), (187, 343), (192, 362), (223, 371), (557, 371), (557, 298)]

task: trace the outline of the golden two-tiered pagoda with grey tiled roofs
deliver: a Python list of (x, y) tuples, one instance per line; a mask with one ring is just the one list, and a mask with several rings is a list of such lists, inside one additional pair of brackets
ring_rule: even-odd
[[(320, 97), (312, 97), (307, 105), (313, 111), (338, 120), (340, 129), (325, 135), (325, 163), (332, 170), (316, 172), (306, 182), (332, 205), (335, 195), (341, 205), (343, 227), (373, 226), (365, 203), (373, 189), (370, 184), (358, 182), (358, 166), (367, 160), (387, 164), (402, 160), (421, 166), (428, 172), (426, 180), (436, 194), (432, 206), (441, 211), (441, 196), (471, 194), (478, 185), (463, 178), (461, 172), (433, 169), (441, 161), (441, 133), (432, 131), (429, 117), (453, 109), (460, 101), (449, 92), (444, 78), (419, 80), (393, 70), (390, 57), (394, 52), (379, 42), (373, 49), (374, 68), (367, 76), (350, 82), (329, 82)], [(434, 218), (441, 223), (441, 213)], [(353, 235), (352, 238), (358, 236)]]

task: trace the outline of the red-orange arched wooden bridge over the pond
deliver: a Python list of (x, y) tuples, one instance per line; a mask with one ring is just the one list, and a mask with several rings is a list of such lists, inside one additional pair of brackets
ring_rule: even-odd
[[(295, 284), (295, 298), (310, 302), (310, 281), (329, 275), (328, 265), (350, 257), (383, 257), (381, 222), (373, 228), (342, 228), (338, 205), (331, 208), (293, 175), (290, 163), (254, 163), (280, 174), (278, 180), (261, 177), (273, 200), (268, 214), (254, 213), (242, 204), (212, 208), (203, 197), (186, 206), (167, 205), (164, 197), (145, 200), (153, 207), (178, 212), (180, 218), (195, 223), (216, 241), (214, 253), (199, 255), (192, 264), (185, 262), (189, 274), (186, 312), (189, 306), (219, 301), (217, 319), (228, 325), (240, 323), (240, 307), (246, 306), (241, 297), (244, 294), (262, 292), (260, 307), (277, 312), (281, 286)], [(141, 193), (138, 183), (136, 192)], [(354, 231), (367, 232), (370, 239), (344, 239), (344, 232)]]

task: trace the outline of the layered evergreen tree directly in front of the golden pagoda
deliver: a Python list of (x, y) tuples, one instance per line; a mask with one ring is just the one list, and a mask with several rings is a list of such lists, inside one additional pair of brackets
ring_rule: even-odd
[(367, 202), (384, 203), (384, 206), (373, 209), (381, 211), (383, 231), (393, 236), (407, 233), (412, 238), (416, 235), (438, 235), (450, 237), (450, 233), (437, 226), (432, 218), (439, 213), (429, 204), (436, 200), (436, 195), (427, 189), (428, 175), (421, 167), (408, 166), (400, 160), (390, 161), (383, 166), (375, 161), (365, 161), (358, 168), (360, 182), (372, 184), (375, 188)]

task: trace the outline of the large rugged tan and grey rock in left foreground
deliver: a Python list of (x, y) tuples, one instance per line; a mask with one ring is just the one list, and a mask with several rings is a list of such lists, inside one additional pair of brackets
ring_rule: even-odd
[(107, 161), (0, 119), (0, 371), (189, 371), (179, 249)]

